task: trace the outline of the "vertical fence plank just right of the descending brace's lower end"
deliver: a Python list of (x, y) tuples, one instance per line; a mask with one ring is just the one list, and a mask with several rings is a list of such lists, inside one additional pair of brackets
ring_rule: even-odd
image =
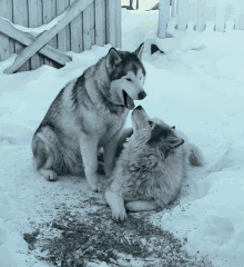
[[(70, 4), (72, 4), (75, 0), (70, 0)], [(70, 36), (71, 36), (71, 50), (73, 52), (82, 52), (83, 51), (83, 12), (78, 14), (70, 22)]]

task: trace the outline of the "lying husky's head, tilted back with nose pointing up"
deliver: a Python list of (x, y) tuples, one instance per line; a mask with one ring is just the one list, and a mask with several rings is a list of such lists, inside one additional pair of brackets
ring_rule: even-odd
[(151, 149), (165, 159), (174, 152), (174, 149), (184, 144), (184, 140), (175, 135), (175, 127), (170, 127), (160, 119), (151, 119), (142, 106), (132, 111), (133, 139), (143, 149)]

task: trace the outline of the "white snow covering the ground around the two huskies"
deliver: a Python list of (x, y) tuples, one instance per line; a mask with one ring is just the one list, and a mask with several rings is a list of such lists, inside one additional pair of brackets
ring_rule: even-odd
[[(151, 220), (186, 239), (189, 254), (209, 255), (214, 266), (243, 267), (244, 32), (233, 30), (232, 22), (224, 33), (213, 31), (212, 23), (202, 33), (191, 27), (179, 32), (172, 19), (169, 33), (174, 38), (160, 40), (157, 11), (123, 9), (122, 19), (123, 49), (133, 51), (145, 41), (148, 97), (140, 105), (150, 116), (184, 131), (206, 159), (205, 167), (190, 171), (179, 205), (152, 215)], [(151, 43), (165, 53), (151, 56)], [(33, 172), (31, 138), (60, 89), (109, 49), (108, 44), (69, 52), (73, 61), (62, 69), (43, 66), (11, 76), (3, 70), (16, 56), (0, 62), (0, 266), (45, 266), (28, 253), (21, 235), (30, 215), (44, 220), (39, 214), (57, 204), (42, 199), (47, 194), (42, 187), (54, 190), (54, 184), (43, 184)], [(28, 196), (42, 205), (28, 201)]]

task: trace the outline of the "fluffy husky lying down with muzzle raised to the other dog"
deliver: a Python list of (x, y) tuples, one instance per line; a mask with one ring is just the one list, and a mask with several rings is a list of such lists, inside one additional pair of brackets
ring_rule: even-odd
[(179, 196), (189, 162), (204, 162), (201, 151), (182, 132), (160, 119), (150, 119), (141, 106), (132, 112), (132, 128), (119, 141), (120, 156), (104, 191), (116, 220), (126, 218), (125, 210), (166, 207)]

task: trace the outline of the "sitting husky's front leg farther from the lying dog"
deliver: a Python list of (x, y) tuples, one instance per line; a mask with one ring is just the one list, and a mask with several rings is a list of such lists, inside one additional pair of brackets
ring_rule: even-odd
[(93, 191), (98, 191), (99, 190), (98, 141), (92, 137), (81, 136), (80, 149), (88, 185)]

